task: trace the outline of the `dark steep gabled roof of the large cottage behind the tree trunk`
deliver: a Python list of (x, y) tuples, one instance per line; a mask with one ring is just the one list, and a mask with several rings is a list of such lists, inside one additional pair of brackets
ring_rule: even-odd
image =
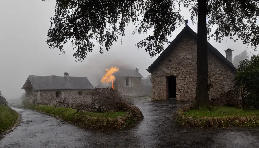
[[(190, 34), (197, 40), (197, 33), (193, 31), (188, 25), (182, 29), (182, 31), (176, 36), (176, 38), (166, 47), (166, 49), (158, 56), (158, 58), (148, 67), (147, 71), (151, 73), (156, 69), (156, 66), (164, 60), (164, 58), (173, 50), (173, 47), (180, 41), (180, 39), (184, 36), (184, 34)], [(213, 47), (209, 42), (208, 49), (214, 54), (219, 60), (221, 60), (224, 64), (226, 64), (233, 72), (235, 72), (236, 68), (234, 65), (225, 58), (215, 47)]]

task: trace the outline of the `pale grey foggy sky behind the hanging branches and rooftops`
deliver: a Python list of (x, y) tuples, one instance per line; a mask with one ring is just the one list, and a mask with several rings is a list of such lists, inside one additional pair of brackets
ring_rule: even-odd
[[(147, 35), (133, 35), (133, 25), (126, 29), (123, 45), (120, 41), (114, 43), (110, 51), (99, 54), (99, 49), (88, 54), (83, 62), (75, 62), (70, 43), (66, 44), (66, 53), (59, 56), (58, 49), (49, 49), (46, 34), (50, 26), (50, 18), (55, 13), (56, 1), (49, 0), (6, 0), (0, 5), (0, 91), (7, 99), (18, 98), (29, 75), (86, 76), (95, 86), (99, 82), (100, 73), (112, 65), (127, 65), (138, 68), (143, 77), (149, 73), (145, 70), (156, 57), (149, 57), (144, 50), (134, 46)], [(188, 9), (182, 9), (182, 15), (189, 20), (188, 25), (197, 32), (197, 24), (192, 25)], [(172, 40), (183, 29), (184, 25), (173, 33)], [(150, 31), (151, 32), (151, 31)], [(242, 42), (221, 41), (221, 44), (210, 40), (210, 43), (224, 56), (227, 48), (233, 51), (233, 58), (242, 50), (255, 52), (251, 48), (242, 46)]]

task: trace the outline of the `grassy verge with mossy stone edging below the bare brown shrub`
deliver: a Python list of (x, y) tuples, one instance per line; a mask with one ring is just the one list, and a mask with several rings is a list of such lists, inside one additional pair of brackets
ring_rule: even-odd
[(77, 112), (72, 108), (55, 108), (45, 105), (25, 105), (24, 107), (60, 117), (88, 129), (122, 129), (135, 123), (132, 114), (126, 114), (126, 112)]

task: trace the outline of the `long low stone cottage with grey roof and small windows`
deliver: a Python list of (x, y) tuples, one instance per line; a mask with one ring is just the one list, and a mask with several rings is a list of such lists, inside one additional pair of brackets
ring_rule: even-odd
[(58, 98), (64, 97), (70, 101), (87, 99), (87, 92), (94, 89), (94, 86), (87, 77), (69, 77), (69, 74), (65, 72), (64, 77), (30, 75), (22, 89), (26, 91), (26, 103), (48, 102), (51, 105)]

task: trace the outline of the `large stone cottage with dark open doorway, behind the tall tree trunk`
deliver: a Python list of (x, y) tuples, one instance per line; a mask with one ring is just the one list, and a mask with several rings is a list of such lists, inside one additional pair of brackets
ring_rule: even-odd
[[(234, 88), (236, 68), (232, 64), (231, 49), (223, 56), (208, 42), (209, 99), (225, 101)], [(194, 101), (197, 75), (197, 34), (186, 25), (171, 44), (158, 56), (147, 71), (151, 73), (153, 100), (176, 98)]]

